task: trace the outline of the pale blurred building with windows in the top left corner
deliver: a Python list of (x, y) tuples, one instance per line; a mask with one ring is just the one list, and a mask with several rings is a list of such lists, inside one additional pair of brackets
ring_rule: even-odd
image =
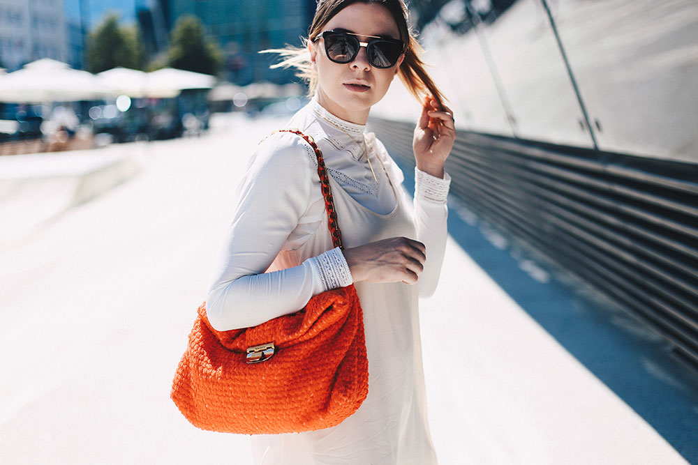
[(0, 65), (8, 71), (41, 58), (68, 61), (63, 0), (0, 0)]

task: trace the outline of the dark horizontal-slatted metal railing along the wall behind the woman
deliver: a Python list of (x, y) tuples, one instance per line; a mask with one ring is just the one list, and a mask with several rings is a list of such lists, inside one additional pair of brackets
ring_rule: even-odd
[[(413, 167), (413, 124), (371, 119)], [(452, 195), (698, 365), (698, 164), (459, 131)]]

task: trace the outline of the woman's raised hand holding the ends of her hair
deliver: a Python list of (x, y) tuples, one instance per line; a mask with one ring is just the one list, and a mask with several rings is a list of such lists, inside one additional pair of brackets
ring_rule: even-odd
[(424, 98), (422, 115), (419, 116), (412, 142), (417, 169), (443, 178), (443, 165), (456, 140), (453, 112), (431, 97)]

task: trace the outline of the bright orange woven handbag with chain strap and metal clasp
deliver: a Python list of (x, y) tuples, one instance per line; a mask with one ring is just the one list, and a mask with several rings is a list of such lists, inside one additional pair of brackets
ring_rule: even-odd
[[(284, 131), (313, 147), (329, 231), (342, 247), (322, 152), (299, 130)], [(253, 328), (217, 331), (202, 304), (170, 397), (195, 427), (279, 434), (339, 425), (368, 392), (364, 315), (352, 284)]]

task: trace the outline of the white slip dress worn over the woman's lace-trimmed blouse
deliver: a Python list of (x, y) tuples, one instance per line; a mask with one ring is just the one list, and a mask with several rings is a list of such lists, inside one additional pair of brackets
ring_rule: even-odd
[[(322, 148), (322, 141), (318, 144)], [(396, 206), (385, 215), (359, 204), (329, 176), (344, 247), (394, 236), (415, 238), (411, 201), (386, 169), (384, 163), (390, 162), (380, 160), (383, 166), (376, 167), (387, 174), (396, 198)], [(325, 218), (301, 247), (281, 252), (270, 270), (297, 266), (331, 248)], [(364, 311), (368, 397), (336, 427), (253, 436), (255, 464), (436, 465), (426, 417), (417, 287), (367, 282), (355, 286)]]

